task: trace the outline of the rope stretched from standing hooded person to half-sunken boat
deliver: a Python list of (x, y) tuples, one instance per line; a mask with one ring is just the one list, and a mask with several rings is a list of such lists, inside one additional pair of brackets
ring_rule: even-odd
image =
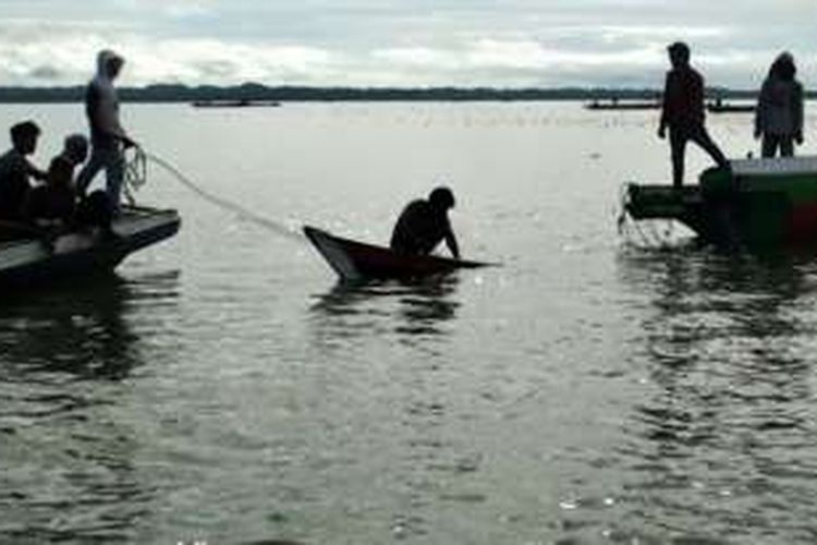
[[(134, 158), (129, 162), (129, 166), (125, 170), (125, 180), (127, 181), (125, 186), (129, 187), (129, 191), (126, 191), (125, 195), (127, 196), (129, 201), (132, 199), (131, 191), (137, 190), (147, 180), (147, 160), (150, 160), (164, 169), (169, 174), (171, 174), (173, 179), (175, 179), (176, 182), (181, 183), (203, 199), (223, 210), (234, 214), (242, 220), (255, 223), (256, 226), (263, 227), (281, 237), (286, 237), (289, 239), (298, 241), (303, 240), (300, 232), (293, 231), (286, 225), (273, 219), (266, 218), (264, 216), (259, 216), (258, 214), (249, 210), (248, 208), (245, 208), (240, 204), (233, 203), (232, 201), (228, 201), (202, 189), (197, 183), (184, 175), (182, 171), (180, 171), (169, 161), (166, 161), (155, 154), (145, 152), (142, 148), (136, 148), (136, 154)], [(133, 204), (132, 201), (131, 204)]]

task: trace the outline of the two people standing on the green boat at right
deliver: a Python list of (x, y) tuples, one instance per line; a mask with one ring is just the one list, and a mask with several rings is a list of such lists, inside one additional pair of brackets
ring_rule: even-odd
[[(707, 152), (719, 167), (729, 160), (709, 136), (705, 124), (704, 77), (690, 63), (690, 47), (676, 41), (668, 48), (671, 69), (667, 72), (658, 136), (669, 132), (672, 184), (683, 185), (687, 142)], [(794, 155), (803, 144), (803, 85), (796, 78), (794, 57), (783, 52), (775, 60), (763, 83), (755, 108), (755, 138), (761, 140), (763, 157)]]

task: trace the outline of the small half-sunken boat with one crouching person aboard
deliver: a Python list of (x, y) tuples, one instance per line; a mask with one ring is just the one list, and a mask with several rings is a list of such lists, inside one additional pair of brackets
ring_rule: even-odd
[(343, 239), (309, 226), (303, 231), (344, 282), (414, 279), (491, 265), (436, 255), (401, 255), (388, 247)]

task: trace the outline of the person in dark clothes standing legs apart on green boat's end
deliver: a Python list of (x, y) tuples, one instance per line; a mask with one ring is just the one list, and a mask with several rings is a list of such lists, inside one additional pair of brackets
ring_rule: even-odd
[(667, 51), (672, 70), (667, 72), (658, 136), (661, 140), (666, 138), (669, 129), (672, 184), (674, 187), (681, 187), (684, 182), (684, 156), (688, 141), (704, 148), (720, 167), (729, 168), (729, 161), (704, 125), (704, 78), (690, 65), (690, 47), (676, 41), (671, 44)]

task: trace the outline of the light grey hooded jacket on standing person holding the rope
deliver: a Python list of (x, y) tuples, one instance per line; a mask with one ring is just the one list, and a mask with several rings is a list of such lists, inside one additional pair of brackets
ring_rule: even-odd
[(97, 74), (85, 90), (85, 112), (90, 125), (94, 147), (115, 147), (125, 136), (119, 121), (119, 98), (113, 81), (108, 75), (108, 63), (122, 58), (111, 50), (97, 56)]

